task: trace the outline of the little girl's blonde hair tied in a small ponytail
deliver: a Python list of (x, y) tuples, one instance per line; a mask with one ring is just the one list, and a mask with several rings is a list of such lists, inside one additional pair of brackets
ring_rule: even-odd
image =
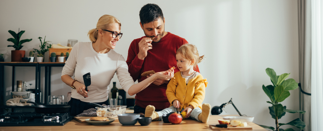
[(198, 63), (200, 63), (205, 57), (204, 55), (199, 57), (199, 52), (193, 44), (184, 44), (177, 49), (176, 55), (181, 53), (182, 56), (190, 61), (194, 60), (194, 69)]

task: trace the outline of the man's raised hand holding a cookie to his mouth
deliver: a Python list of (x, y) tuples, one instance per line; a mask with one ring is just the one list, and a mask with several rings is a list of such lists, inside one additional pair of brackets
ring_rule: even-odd
[(152, 39), (150, 37), (144, 37), (138, 43), (139, 45), (139, 53), (138, 58), (143, 60), (147, 56), (147, 51), (152, 49), (151, 45)]

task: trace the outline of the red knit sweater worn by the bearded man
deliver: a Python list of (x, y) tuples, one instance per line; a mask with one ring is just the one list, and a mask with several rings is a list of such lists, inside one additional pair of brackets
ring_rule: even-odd
[[(146, 36), (144, 36), (146, 37)], [(176, 65), (176, 50), (183, 44), (188, 43), (185, 39), (168, 32), (158, 43), (151, 43), (152, 49), (148, 50), (147, 57), (144, 60), (138, 58), (139, 42), (142, 38), (134, 39), (128, 50), (127, 64), (129, 73), (134, 81), (145, 80), (147, 77), (141, 77), (146, 71), (155, 72), (166, 71)], [(174, 69), (175, 73), (178, 68)], [(199, 71), (197, 67), (195, 71)], [(161, 85), (150, 84), (147, 88), (136, 94), (135, 104), (141, 108), (153, 105), (156, 109), (165, 109), (170, 106), (166, 96), (167, 83)]]

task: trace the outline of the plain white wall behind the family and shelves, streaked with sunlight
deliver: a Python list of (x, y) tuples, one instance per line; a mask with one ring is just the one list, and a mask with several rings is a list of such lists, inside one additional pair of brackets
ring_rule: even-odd
[[(262, 85), (271, 84), (265, 72), (267, 67), (273, 68), (277, 75), (291, 73), (289, 78), (298, 82), (297, 1), (1, 0), (0, 53), (8, 50), (5, 61), (11, 61), (13, 48), (7, 48), (12, 45), (6, 41), (11, 38), (8, 30), (17, 32), (20, 28), (26, 31), (22, 39), (33, 39), (23, 44), (22, 50), (28, 54), (32, 48), (38, 48), (37, 38), (45, 35), (46, 40), (62, 45), (68, 39), (89, 41), (88, 31), (96, 27), (100, 16), (110, 14), (122, 24), (124, 35), (115, 51), (126, 59), (130, 42), (144, 35), (139, 25), (139, 11), (147, 3), (161, 7), (165, 31), (195, 44), (200, 55), (207, 58), (199, 64), (201, 74), (209, 82), (203, 103), (220, 106), (233, 98), (239, 111), (254, 116), (255, 123), (275, 127), (275, 120), (269, 114), (270, 104), (266, 103), (269, 98)], [(66, 95), (70, 91), (60, 80), (61, 70), (62, 67), (52, 68), (52, 95)], [(8, 95), (11, 67), (5, 67), (5, 76)], [(34, 68), (16, 68), (16, 80), (33, 83), (34, 87), (34, 77)], [(116, 77), (112, 81), (119, 83)], [(287, 109), (298, 110), (298, 90), (290, 93), (282, 104)], [(223, 114), (237, 114), (232, 105), (224, 109), (227, 112)], [(287, 123), (298, 116), (287, 113), (279, 122)]]

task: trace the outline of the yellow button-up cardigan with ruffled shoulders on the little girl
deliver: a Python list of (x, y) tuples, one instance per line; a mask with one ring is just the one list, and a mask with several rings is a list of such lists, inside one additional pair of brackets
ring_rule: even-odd
[(193, 109), (200, 107), (202, 109), (202, 102), (205, 98), (205, 88), (207, 86), (206, 79), (203, 79), (201, 74), (197, 75), (193, 79), (190, 79), (186, 85), (186, 79), (181, 76), (181, 72), (176, 72), (174, 77), (169, 81), (166, 90), (166, 96), (171, 103), (174, 100), (181, 102), (181, 108), (192, 105)]

